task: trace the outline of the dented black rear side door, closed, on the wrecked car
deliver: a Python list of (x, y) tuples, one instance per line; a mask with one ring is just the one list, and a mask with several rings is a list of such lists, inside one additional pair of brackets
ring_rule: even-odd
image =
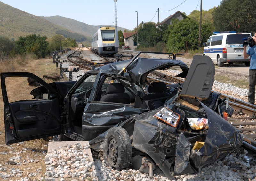
[[(109, 102), (107, 100), (102, 100), (104, 94), (107, 95), (106, 87), (112, 83), (120, 83), (112, 76), (108, 75), (102, 76), (100, 73), (98, 74), (98, 80), (103, 80), (104, 83), (97, 83), (95, 81), (94, 88), (90, 95), (89, 101), (84, 108), (84, 114), (82, 118), (82, 131), (83, 137), (85, 141), (89, 141), (107, 131), (109, 128), (115, 126), (121, 121), (127, 120), (131, 115), (139, 115), (143, 112), (148, 111), (148, 109), (136, 108), (133, 103), (120, 103), (120, 100), (116, 100), (116, 102)], [(113, 81), (114, 80), (114, 81)], [(128, 82), (128, 81), (127, 81)], [(128, 89), (125, 88), (123, 93), (129, 93)], [(99, 93), (101, 93), (101, 98), (97, 98)], [(112, 96), (110, 96), (112, 97)], [(122, 97), (118, 97), (116, 99), (122, 99)]]

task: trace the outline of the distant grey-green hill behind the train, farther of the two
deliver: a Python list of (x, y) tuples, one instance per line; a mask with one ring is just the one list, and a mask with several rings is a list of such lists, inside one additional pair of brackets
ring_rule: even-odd
[[(70, 18), (65, 18), (62, 16), (49, 16), (49, 17), (40, 16), (40, 17), (52, 22), (55, 25), (62, 26), (70, 31), (74, 31), (74, 32), (80, 33), (80, 34), (82, 34), (84, 36), (88, 36), (88, 37), (92, 37), (92, 35), (101, 26), (110, 26), (110, 25), (98, 25), (98, 26), (88, 25), (86, 23), (76, 21), (76, 20), (70, 19)], [(117, 26), (117, 30), (122, 30), (122, 32), (124, 32), (124, 29), (125, 28)]]

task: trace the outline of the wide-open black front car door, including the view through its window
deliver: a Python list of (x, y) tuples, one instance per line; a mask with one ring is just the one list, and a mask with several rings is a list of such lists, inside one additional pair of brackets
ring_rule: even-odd
[[(20, 91), (13, 92), (14, 86)], [(32, 73), (10, 72), (1, 73), (1, 88), (6, 144), (62, 133), (61, 96), (52, 86)], [(42, 99), (42, 91), (48, 98)]]

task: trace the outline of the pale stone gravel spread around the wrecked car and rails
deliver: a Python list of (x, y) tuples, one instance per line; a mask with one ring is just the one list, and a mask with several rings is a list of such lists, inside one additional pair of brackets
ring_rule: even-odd
[[(70, 52), (68, 53), (70, 54)], [(67, 54), (63, 54), (62, 56), (66, 56)], [(66, 59), (66, 58), (64, 58)], [(71, 65), (70, 63), (63, 63), (63, 67), (69, 68)], [(177, 72), (174, 72), (175, 70), (167, 70), (165, 71), (166, 74), (175, 74)], [(77, 80), (76, 76), (82, 75), (86, 72), (86, 70), (80, 69), (79, 72), (73, 72), (73, 80)], [(68, 74), (66, 75), (68, 76)], [(247, 89), (240, 89), (237, 88), (231, 84), (225, 84), (220, 83), (217, 81), (214, 81), (213, 90), (222, 92), (224, 94), (234, 96), (236, 98), (240, 98), (242, 100), (247, 99), (248, 90)], [(2, 133), (0, 133), (2, 134)], [(18, 143), (18, 144), (22, 144)], [(26, 152), (26, 150), (31, 148), (23, 148), (23, 150), (15, 150), (15, 144), (12, 145), (0, 145), (6, 147), (6, 152), (0, 152), (0, 156), (8, 153), (12, 153), (13, 157), (9, 158), (9, 162), (5, 163), (4, 165), (0, 165), (0, 178), (2, 180), (20, 180), (20, 181), (28, 181), (31, 180), (30, 177), (37, 176), (37, 180), (44, 180), (44, 176), (42, 176), (42, 169), (36, 169), (33, 170), (29, 167), (29, 164), (32, 162), (38, 162), (38, 160), (34, 160), (33, 158), (27, 157), (27, 158), (21, 158), (19, 156), (19, 153)], [(47, 145), (45, 145), (47, 147)], [(118, 170), (112, 167), (108, 167), (105, 164), (105, 161), (102, 157), (98, 157), (98, 155), (94, 156), (94, 166), (96, 169), (96, 172), (90, 169), (86, 169), (85, 165), (87, 165), (87, 168), (90, 168), (89, 165), (92, 165), (92, 163), (86, 163), (86, 155), (81, 154), (81, 150), (83, 147), (76, 148), (70, 148), (69, 152), (70, 154), (74, 153), (76, 156), (73, 160), (70, 160), (70, 165), (74, 167), (75, 165), (78, 166), (84, 166), (81, 167), (78, 166), (76, 174), (72, 173), (70, 170), (68, 170), (68, 165), (65, 165), (67, 163), (63, 162), (54, 162), (54, 165), (49, 162), (49, 157), (45, 157), (46, 153), (42, 152), (39, 153), (42, 155), (40, 159), (45, 159), (45, 164), (48, 169), (58, 168), (57, 170), (61, 173), (58, 175), (61, 180), (66, 180), (68, 177), (68, 180), (86, 180), (88, 177), (96, 177), (98, 180), (113, 180), (113, 181), (147, 181), (147, 180), (158, 180), (158, 181), (169, 181), (164, 174), (159, 169), (154, 170), (154, 178), (148, 177), (148, 174), (140, 173), (138, 170), (133, 169), (132, 167), (127, 168), (126, 170)], [(56, 153), (63, 153), (63, 150), (56, 150)], [(67, 154), (68, 155), (68, 154)], [(66, 156), (67, 156), (66, 155)], [(234, 151), (222, 161), (218, 161), (210, 166), (204, 167), (200, 173), (196, 175), (181, 175), (175, 177), (173, 180), (178, 181), (197, 181), (197, 180), (255, 180), (256, 181), (256, 166), (255, 166), (255, 154), (250, 154), (246, 149), (241, 151)], [(45, 158), (44, 158), (45, 157)], [(60, 156), (57, 156), (59, 158)], [(83, 157), (83, 158), (82, 158)], [(62, 160), (65, 160), (65, 156), (61, 157)], [(68, 160), (68, 159), (67, 159)], [(82, 160), (82, 161), (81, 161)], [(12, 169), (7, 170), (5, 165), (8, 164), (14, 164), (16, 165), (23, 165), (27, 164), (27, 169), (21, 170), (16, 167), (13, 167)], [(66, 166), (64, 166), (64, 165)], [(53, 167), (52, 167), (53, 166)], [(80, 170), (79, 170), (80, 168)], [(85, 169), (85, 170), (84, 170)], [(78, 171), (79, 170), (79, 171)], [(89, 170), (89, 171), (88, 171)], [(79, 173), (80, 172), (80, 173)], [(56, 172), (55, 172), (56, 173)], [(79, 174), (78, 174), (79, 173)], [(63, 177), (62, 177), (63, 176)], [(15, 179), (12, 179), (14, 178)], [(57, 177), (57, 175), (55, 176)], [(17, 179), (18, 178), (18, 179)], [(53, 178), (54, 180), (54, 178)]]

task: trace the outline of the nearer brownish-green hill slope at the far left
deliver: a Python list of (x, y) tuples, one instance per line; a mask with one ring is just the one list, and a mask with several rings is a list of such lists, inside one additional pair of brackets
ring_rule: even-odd
[(2, 2), (0, 2), (0, 12), (0, 36), (6, 36), (12, 40), (29, 34), (52, 37), (57, 33), (64, 37), (76, 39), (76, 41), (80, 41), (80, 37), (86, 39), (79, 33), (67, 30), (39, 16), (34, 16)]

